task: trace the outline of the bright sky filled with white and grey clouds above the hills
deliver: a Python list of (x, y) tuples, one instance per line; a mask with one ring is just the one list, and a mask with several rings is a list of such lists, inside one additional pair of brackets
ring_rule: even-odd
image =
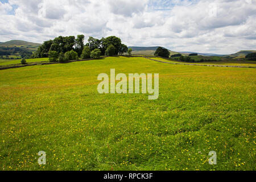
[(0, 0), (0, 42), (115, 35), (127, 46), (256, 49), (256, 0)]

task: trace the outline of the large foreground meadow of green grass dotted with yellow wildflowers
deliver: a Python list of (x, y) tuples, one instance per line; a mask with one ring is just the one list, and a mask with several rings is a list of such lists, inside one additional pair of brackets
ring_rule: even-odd
[[(159, 73), (158, 100), (99, 94), (97, 76), (111, 68)], [(0, 168), (255, 170), (255, 78), (254, 68), (142, 57), (2, 70)], [(209, 165), (210, 151), (217, 165)]]

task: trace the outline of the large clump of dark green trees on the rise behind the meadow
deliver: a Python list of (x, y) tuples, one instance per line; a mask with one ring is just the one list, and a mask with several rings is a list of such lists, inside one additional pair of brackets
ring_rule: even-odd
[(100, 56), (121, 55), (128, 52), (131, 54), (131, 49), (122, 43), (121, 39), (116, 36), (96, 39), (89, 37), (88, 43), (84, 45), (84, 35), (75, 36), (59, 36), (53, 40), (45, 41), (32, 54), (32, 58), (48, 57), (49, 61), (65, 62), (69, 60), (98, 59)]

